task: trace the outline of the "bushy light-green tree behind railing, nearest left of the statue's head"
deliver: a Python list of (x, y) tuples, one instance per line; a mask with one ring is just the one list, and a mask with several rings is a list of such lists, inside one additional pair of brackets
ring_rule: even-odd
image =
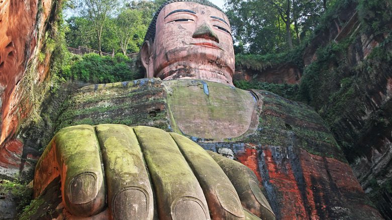
[(116, 18), (115, 35), (124, 55), (127, 54), (128, 46), (134, 40), (138, 30), (147, 29), (142, 22), (142, 15), (142, 12), (136, 9), (123, 9)]

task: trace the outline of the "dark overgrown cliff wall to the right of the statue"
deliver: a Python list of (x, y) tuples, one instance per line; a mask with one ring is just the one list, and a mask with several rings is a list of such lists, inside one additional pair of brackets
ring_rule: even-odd
[[(323, 118), (361, 187), (391, 219), (391, 6), (387, 1), (345, 2), (296, 52), (300, 60), (286, 57), (277, 64), (243, 57), (237, 79), (292, 83), (300, 76), (293, 82), (299, 84), (296, 100)], [(289, 74), (296, 72), (293, 67), (297, 74)]]

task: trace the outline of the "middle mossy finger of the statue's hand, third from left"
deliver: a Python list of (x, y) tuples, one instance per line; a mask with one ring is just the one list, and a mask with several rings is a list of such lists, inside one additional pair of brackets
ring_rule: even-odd
[(144, 126), (134, 131), (151, 175), (159, 219), (211, 219), (203, 190), (170, 134)]

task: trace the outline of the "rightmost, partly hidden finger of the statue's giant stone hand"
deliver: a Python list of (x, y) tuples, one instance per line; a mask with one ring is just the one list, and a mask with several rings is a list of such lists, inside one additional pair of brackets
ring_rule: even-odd
[(257, 177), (253, 171), (240, 162), (212, 151), (207, 152), (214, 158), (233, 183), (241, 199), (242, 206), (254, 215), (261, 217), (261, 219), (274, 220), (275, 214), (272, 212), (271, 206), (261, 192)]

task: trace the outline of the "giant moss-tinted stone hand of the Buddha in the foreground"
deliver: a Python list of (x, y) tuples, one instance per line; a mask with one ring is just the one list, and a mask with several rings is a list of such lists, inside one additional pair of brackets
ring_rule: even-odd
[(58, 176), (76, 217), (275, 219), (249, 168), (157, 128), (64, 128), (38, 161), (35, 196)]

